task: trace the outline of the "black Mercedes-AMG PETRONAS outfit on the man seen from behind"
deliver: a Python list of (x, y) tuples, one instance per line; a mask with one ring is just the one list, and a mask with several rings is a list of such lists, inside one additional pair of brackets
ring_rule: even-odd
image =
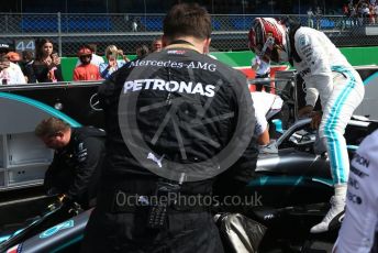
[[(245, 77), (237, 70), (190, 47), (175, 43), (171, 46), (126, 63), (99, 88), (108, 134), (107, 155), (98, 205), (85, 232), (84, 252), (223, 252), (209, 207), (169, 205), (164, 226), (156, 229), (148, 224), (149, 206), (130, 204), (120, 208), (116, 202), (119, 193), (126, 193), (127, 197), (136, 195), (138, 200), (146, 201), (145, 196), (154, 196), (156, 182), (166, 180), (147, 169), (142, 164), (144, 162), (153, 160), (160, 169), (166, 169), (160, 163), (190, 164), (208, 161), (218, 154), (236, 129), (235, 120), (241, 108), (235, 92), (249, 94)], [(122, 116), (118, 112), (122, 109), (119, 107), (120, 95), (126, 92), (137, 97), (135, 114), (138, 129), (122, 128)], [(182, 99), (178, 106), (175, 105), (177, 99)], [(251, 97), (249, 101), (247, 110), (253, 116)], [(143, 113), (145, 108), (152, 111)], [(196, 132), (184, 124), (176, 129), (173, 121), (164, 120), (171, 109), (175, 109), (171, 119), (178, 117), (182, 123), (193, 122), (198, 113), (202, 117), (204, 113), (205, 119), (211, 120), (196, 124)], [(238, 117), (218, 119), (230, 112), (236, 112)], [(140, 132), (152, 150), (148, 156), (138, 160), (132, 153), (133, 146), (127, 144), (130, 140), (123, 140), (122, 131)], [(159, 138), (154, 139), (156, 133)], [(244, 138), (249, 142), (251, 136)], [(184, 148), (180, 148), (180, 143)], [(241, 169), (253, 169), (255, 165), (255, 150), (248, 148), (234, 164)], [(184, 196), (210, 195), (213, 179), (184, 182), (178, 193)]]

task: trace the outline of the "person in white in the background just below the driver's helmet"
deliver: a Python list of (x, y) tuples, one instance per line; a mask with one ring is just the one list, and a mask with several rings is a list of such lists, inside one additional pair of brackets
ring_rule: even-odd
[[(252, 59), (252, 68), (256, 72), (256, 78), (268, 79), (270, 77), (270, 61), (267, 57), (256, 55)], [(266, 92), (270, 92), (269, 81), (255, 84), (255, 87), (256, 91), (262, 91), (264, 87)]]

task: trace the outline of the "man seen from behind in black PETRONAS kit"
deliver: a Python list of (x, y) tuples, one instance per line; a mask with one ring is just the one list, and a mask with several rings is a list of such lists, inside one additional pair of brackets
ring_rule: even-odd
[(223, 252), (200, 200), (221, 172), (255, 166), (255, 120), (245, 77), (205, 55), (210, 34), (204, 9), (174, 6), (164, 50), (100, 86), (107, 155), (82, 252)]

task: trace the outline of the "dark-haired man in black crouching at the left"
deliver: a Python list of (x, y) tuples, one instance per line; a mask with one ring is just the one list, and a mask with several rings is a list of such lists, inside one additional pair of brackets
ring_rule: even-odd
[(84, 209), (94, 206), (104, 156), (104, 131), (70, 128), (60, 119), (48, 118), (35, 128), (35, 134), (55, 150), (45, 174), (47, 194), (58, 195), (63, 202), (76, 201)]

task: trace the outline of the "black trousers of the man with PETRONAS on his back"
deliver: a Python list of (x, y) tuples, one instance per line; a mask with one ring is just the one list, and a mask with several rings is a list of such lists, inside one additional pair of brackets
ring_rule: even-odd
[(88, 253), (222, 253), (223, 246), (208, 211), (168, 210), (164, 229), (147, 224), (148, 208), (113, 212), (111, 195), (101, 193), (85, 231), (81, 252)]

